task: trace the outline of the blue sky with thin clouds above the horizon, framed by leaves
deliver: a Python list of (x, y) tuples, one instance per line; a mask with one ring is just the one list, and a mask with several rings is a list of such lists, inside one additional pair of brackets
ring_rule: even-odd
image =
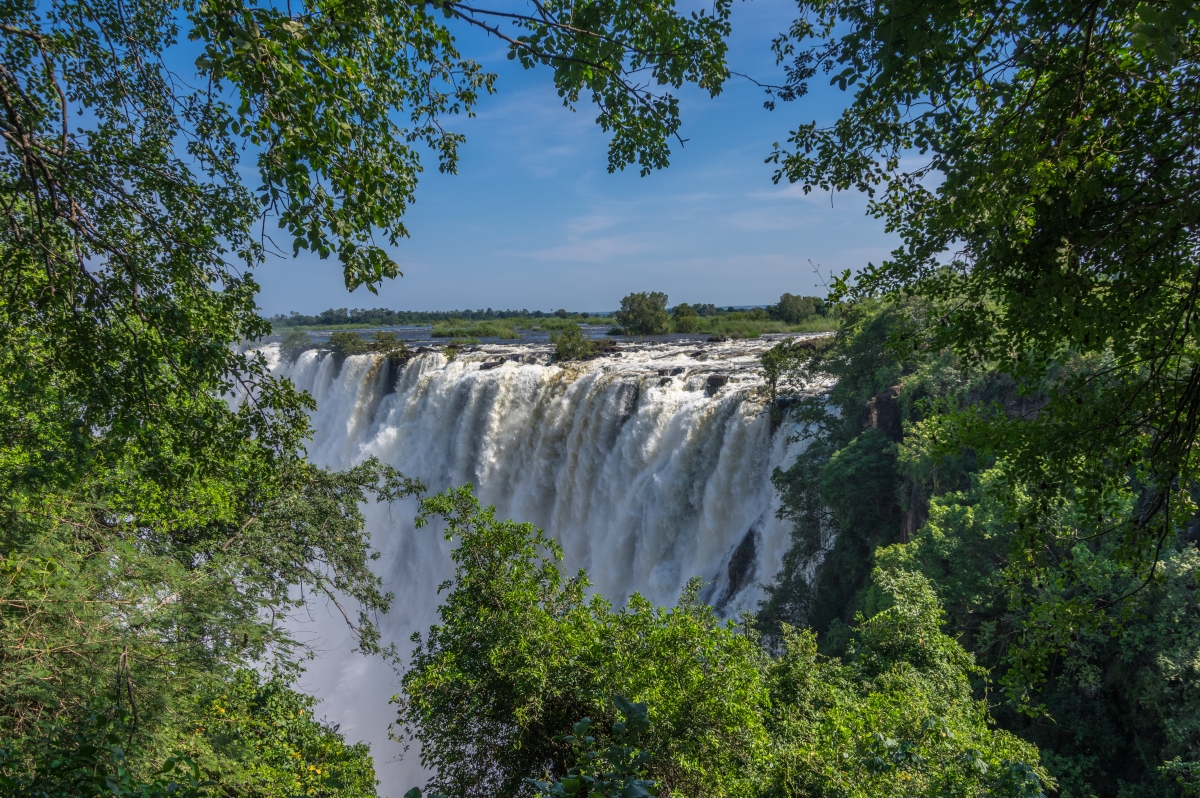
[[(779, 80), (769, 43), (794, 16), (785, 0), (733, 8), (731, 68)], [(608, 174), (607, 138), (592, 107), (564, 108), (546, 70), (523, 71), (496, 40), (456, 30), (462, 52), (499, 74), (497, 94), (466, 133), (457, 175), (427, 172), (392, 251), (404, 276), (374, 296), (348, 293), (336, 262), (275, 258), (256, 272), (266, 314), (326, 307), (601, 311), (630, 292), (671, 304), (762, 305), (784, 292), (822, 294), (828, 275), (878, 263), (895, 246), (853, 193), (804, 196), (772, 184), (774, 142), (810, 120), (828, 122), (846, 96), (821, 76), (776, 110), (762, 90), (731, 78), (715, 100), (680, 94), (682, 134), (671, 166), (641, 178)]]

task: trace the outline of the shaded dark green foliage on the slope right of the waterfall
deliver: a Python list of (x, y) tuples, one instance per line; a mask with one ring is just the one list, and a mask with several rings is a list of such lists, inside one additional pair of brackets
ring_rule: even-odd
[[(946, 604), (947, 631), (1003, 686), (996, 720), (1038, 745), (1061, 794), (1178, 794), (1198, 758), (1186, 665), (1200, 650), (1194, 522), (1175, 527), (1150, 580), (1104, 534), (1145, 500), (1135, 490), (1108, 493), (1098, 515), (1069, 502), (1039, 509), (1055, 544), (1031, 554), (1020, 524), (1038, 492), (1006, 461), (947, 445), (946, 424), (972, 407), (1028, 418), (1046, 398), (949, 353), (901, 359), (888, 342), (924, 312), (857, 304), (832, 346), (781, 361), (781, 380), (839, 382), (828, 402), (790, 407), (811, 439), (775, 475), (793, 544), (760, 625), (775, 646), (797, 624), (820, 632), (822, 650), (848, 652), (847, 610), (872, 616), (884, 602), (871, 570), (919, 571)], [(884, 408), (895, 437), (882, 434)]]

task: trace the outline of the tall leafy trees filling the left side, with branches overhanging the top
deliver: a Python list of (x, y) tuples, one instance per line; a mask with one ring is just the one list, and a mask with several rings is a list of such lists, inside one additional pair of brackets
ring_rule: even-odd
[[(494, 88), (452, 26), (550, 68), (564, 103), (596, 106), (610, 168), (646, 172), (677, 138), (671, 91), (720, 90), (727, 14), (727, 2), (689, 14), (607, 1), (528, 14), (0, 4), (5, 785), (71, 792), (83, 787), (70, 774), (90, 773), (97, 790), (112, 776), (119, 794), (157, 794), (185, 773), (188, 790), (234, 790), (256, 772), (251, 793), (293, 794), (290, 754), (215, 746), (187, 754), (199, 770), (184, 764), (212, 720), (194, 697), (275, 668), (272, 695), (299, 712), (286, 685), (306, 650), (286, 619), (312, 598), (386, 655), (374, 624), (390, 595), (361, 504), (420, 485), (376, 461), (331, 473), (305, 460), (312, 398), (246, 346), (270, 331), (252, 270), (308, 251), (336, 258), (350, 289), (400, 274), (384, 246), (406, 235), (422, 151), (452, 172), (462, 137), (449, 120)], [(395, 337), (352, 337), (335, 356), (407, 356)], [(310, 344), (293, 337), (287, 354)], [(304, 733), (343, 745), (320, 728)], [(22, 780), (42, 764), (67, 775)], [(373, 791), (355, 773), (344, 794)]]

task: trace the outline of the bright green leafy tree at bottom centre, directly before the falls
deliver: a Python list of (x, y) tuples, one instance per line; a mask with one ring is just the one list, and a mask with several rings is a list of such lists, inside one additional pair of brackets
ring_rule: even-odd
[[(460, 796), (529, 794), (526, 779), (568, 775), (572, 719), (614, 720), (608, 696), (649, 704), (647, 774), (672, 793), (745, 794), (768, 754), (762, 654), (696, 600), (678, 607), (634, 595), (619, 611), (587, 598), (580, 572), (528, 523), (498, 521), (469, 487), (422, 502), (457, 541), (439, 623), (403, 677), (400, 725), (421, 744), (430, 788)], [(611, 742), (596, 733), (601, 744)]]

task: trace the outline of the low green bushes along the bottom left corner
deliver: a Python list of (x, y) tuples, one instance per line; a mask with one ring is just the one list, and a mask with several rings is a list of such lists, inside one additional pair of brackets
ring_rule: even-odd
[[(0, 752), (0, 794), (193, 798), (373, 797), (366, 745), (346, 745), (336, 727), (312, 716), (314, 700), (278, 677), (240, 671), (202, 689), (187, 707), (179, 751), (149, 772), (128, 712), (42, 724)], [(142, 770), (142, 773), (139, 773)]]

